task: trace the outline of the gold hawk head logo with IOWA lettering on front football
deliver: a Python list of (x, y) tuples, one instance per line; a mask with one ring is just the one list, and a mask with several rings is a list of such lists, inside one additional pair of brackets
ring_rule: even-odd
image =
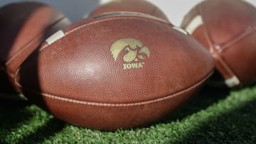
[(150, 56), (149, 48), (144, 46), (141, 41), (133, 38), (117, 40), (111, 46), (110, 51), (115, 61), (117, 61), (117, 57), (119, 57), (122, 51), (127, 51), (123, 56), (125, 62), (123, 64), (124, 70), (143, 68), (145, 64), (143, 60)]

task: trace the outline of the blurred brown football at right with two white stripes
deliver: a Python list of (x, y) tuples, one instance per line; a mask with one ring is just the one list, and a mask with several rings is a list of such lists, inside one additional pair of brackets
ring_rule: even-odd
[(239, 88), (256, 81), (254, 6), (245, 1), (203, 1), (185, 16), (181, 27), (215, 58), (221, 77), (214, 77), (212, 84)]

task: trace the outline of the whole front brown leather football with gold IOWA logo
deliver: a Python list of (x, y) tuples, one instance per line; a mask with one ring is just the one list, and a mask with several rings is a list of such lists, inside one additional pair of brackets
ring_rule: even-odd
[(114, 12), (51, 35), (15, 79), (56, 118), (114, 131), (159, 121), (198, 92), (213, 70), (210, 52), (181, 28)]

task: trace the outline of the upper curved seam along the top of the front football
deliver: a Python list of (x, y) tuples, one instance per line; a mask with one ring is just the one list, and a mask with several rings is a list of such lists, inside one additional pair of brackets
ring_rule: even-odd
[[(145, 16), (147, 16), (146, 14), (144, 14)], [(67, 35), (69, 35), (70, 33), (74, 33), (75, 31), (78, 31), (78, 30), (80, 30), (81, 28), (85, 28), (85, 27), (87, 27), (87, 26), (91, 26), (91, 25), (93, 25), (93, 24), (95, 24), (95, 23), (101, 23), (101, 22), (105, 22), (105, 21), (112, 21), (112, 20), (117, 20), (117, 19), (122, 19), (122, 18), (129, 18), (129, 19), (139, 19), (139, 20), (142, 20), (142, 21), (152, 21), (152, 22), (157, 22), (157, 23), (161, 23), (161, 24), (164, 24), (164, 25), (166, 25), (166, 26), (169, 26), (169, 27), (171, 27), (171, 28), (173, 28), (174, 26), (171, 24), (171, 23), (169, 23), (168, 21), (165, 21), (165, 20), (162, 20), (161, 18), (148, 18), (148, 17), (143, 17), (143, 15), (142, 16), (135, 16), (135, 15), (132, 15), (132, 16), (123, 16), (123, 17), (121, 17), (121, 15), (120, 16), (117, 16), (117, 17), (114, 17), (114, 18), (111, 18), (111, 17), (107, 17), (107, 18), (103, 18), (103, 19), (100, 19), (100, 20), (97, 20), (97, 21), (92, 21), (92, 22), (90, 22), (90, 23), (86, 23), (86, 24), (84, 24), (84, 25), (82, 25), (82, 26), (78, 26), (77, 28), (73, 28), (72, 30), (70, 30), (70, 31), (63, 31), (63, 33), (65, 33), (65, 36), (63, 36), (63, 38), (65, 38)], [(153, 17), (153, 16), (152, 16)], [(62, 38), (60, 38), (60, 39), (58, 39), (58, 40), (55, 40), (55, 42), (54, 43), (56, 43), (56, 42), (58, 42), (59, 40), (61, 40)], [(51, 43), (50, 45), (53, 45), (53, 43)], [(40, 49), (40, 51), (41, 50), (43, 50), (43, 49), (45, 49), (45, 48), (47, 48), (48, 46), (50, 46), (50, 45), (43, 45), (43, 47)]]

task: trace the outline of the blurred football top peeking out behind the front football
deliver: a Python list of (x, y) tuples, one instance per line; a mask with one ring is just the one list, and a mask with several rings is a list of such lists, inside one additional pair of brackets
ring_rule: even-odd
[(158, 18), (163, 18), (168, 21), (168, 18), (161, 9), (154, 4), (145, 0), (112, 0), (106, 4), (98, 6), (94, 11), (90, 13), (90, 16), (96, 16), (102, 13), (114, 12), (114, 11), (130, 11), (137, 13), (149, 14)]

